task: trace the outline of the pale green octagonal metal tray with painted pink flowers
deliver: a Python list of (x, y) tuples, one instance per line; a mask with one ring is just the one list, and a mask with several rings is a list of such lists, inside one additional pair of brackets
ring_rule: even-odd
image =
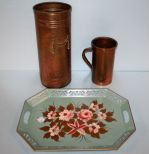
[(17, 127), (42, 151), (117, 150), (134, 131), (128, 100), (109, 89), (45, 89), (25, 101)]

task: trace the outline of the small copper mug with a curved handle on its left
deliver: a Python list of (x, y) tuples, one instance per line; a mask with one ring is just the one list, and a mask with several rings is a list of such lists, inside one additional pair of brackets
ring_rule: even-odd
[[(82, 58), (91, 68), (92, 81), (97, 85), (108, 85), (112, 82), (115, 49), (118, 43), (110, 37), (97, 37), (91, 46), (84, 49)], [(86, 58), (86, 53), (92, 52), (92, 64)]]

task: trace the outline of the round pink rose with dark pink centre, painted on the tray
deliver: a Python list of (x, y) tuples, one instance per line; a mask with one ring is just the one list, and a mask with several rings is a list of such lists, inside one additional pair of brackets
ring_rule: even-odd
[(81, 109), (78, 113), (77, 113), (78, 117), (80, 120), (83, 121), (88, 121), (92, 118), (93, 113), (88, 110), (88, 109)]

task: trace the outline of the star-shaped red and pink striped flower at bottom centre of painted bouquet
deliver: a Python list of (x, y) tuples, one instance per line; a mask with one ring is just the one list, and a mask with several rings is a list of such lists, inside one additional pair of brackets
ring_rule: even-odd
[(73, 135), (78, 132), (82, 135), (85, 135), (85, 130), (83, 128), (85, 128), (86, 126), (84, 124), (79, 124), (78, 121), (75, 121), (73, 124), (69, 123), (68, 126), (72, 128), (72, 130), (69, 131), (68, 134)]

